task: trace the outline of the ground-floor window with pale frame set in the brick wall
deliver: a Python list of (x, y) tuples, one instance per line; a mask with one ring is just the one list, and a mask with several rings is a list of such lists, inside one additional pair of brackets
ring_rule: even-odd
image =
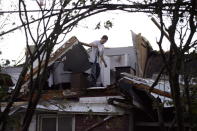
[(70, 115), (40, 115), (39, 131), (74, 131), (74, 117)]

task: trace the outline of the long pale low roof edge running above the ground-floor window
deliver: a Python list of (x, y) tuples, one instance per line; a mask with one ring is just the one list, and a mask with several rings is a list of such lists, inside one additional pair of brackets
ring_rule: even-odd
[[(21, 109), (26, 109), (27, 105), (13, 109), (16, 113)], [(125, 111), (121, 108), (109, 105), (107, 103), (79, 103), (79, 102), (57, 102), (48, 101), (40, 103), (36, 107), (37, 111), (70, 113), (70, 114), (107, 114), (107, 115), (123, 115)]]

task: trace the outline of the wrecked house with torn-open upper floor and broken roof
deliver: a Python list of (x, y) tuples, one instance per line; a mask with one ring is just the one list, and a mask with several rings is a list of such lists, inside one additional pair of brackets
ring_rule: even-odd
[[(160, 82), (149, 93), (154, 81), (144, 77), (150, 70), (147, 60), (152, 48), (140, 34), (132, 33), (132, 37), (134, 46), (105, 49), (108, 66), (101, 66), (97, 85), (102, 86), (98, 87), (89, 86), (88, 51), (76, 37), (53, 53), (48, 65), (49, 77), (29, 131), (157, 131), (160, 115), (165, 128), (170, 127), (174, 114), (168, 104), (169, 84)], [(10, 76), (17, 74), (9, 69), (4, 71)], [(34, 75), (36, 72), (35, 64)], [(21, 118), (21, 122), (27, 108), (29, 79), (27, 75), (22, 95), (9, 114), (19, 121)], [(162, 114), (158, 113), (155, 101), (164, 104)]]

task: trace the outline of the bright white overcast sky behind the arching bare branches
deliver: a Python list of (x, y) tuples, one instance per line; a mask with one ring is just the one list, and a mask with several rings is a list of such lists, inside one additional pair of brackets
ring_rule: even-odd
[[(110, 30), (104, 29), (103, 27), (99, 30), (94, 29), (98, 22), (101, 21), (101, 23), (103, 23), (106, 20), (113, 22), (113, 27)], [(79, 25), (68, 34), (65, 41), (71, 36), (77, 36), (80, 41), (90, 43), (100, 39), (103, 34), (106, 34), (109, 36), (106, 47), (132, 46), (131, 30), (135, 33), (141, 33), (149, 40), (155, 50), (158, 49), (156, 39), (159, 39), (160, 32), (150, 18), (142, 13), (126, 13), (120, 11), (105, 12), (82, 20)], [(167, 50), (168, 41), (165, 39), (164, 43), (166, 44), (164, 48)], [(60, 45), (61, 44), (57, 45), (57, 47)], [(15, 31), (11, 35), (5, 36), (4, 40), (1, 41), (0, 49), (3, 54), (0, 58), (19, 60), (24, 56), (24, 48), (24, 35), (22, 35), (20, 30)]]

